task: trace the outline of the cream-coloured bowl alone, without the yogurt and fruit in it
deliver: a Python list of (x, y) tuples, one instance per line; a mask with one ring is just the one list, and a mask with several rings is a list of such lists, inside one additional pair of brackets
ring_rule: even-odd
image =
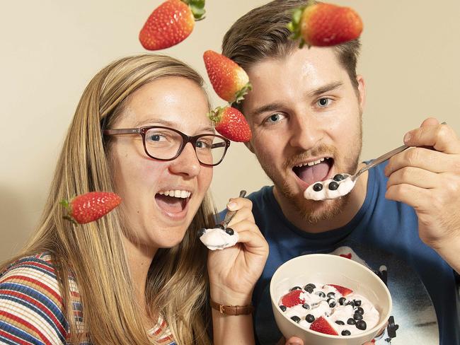
[[(278, 302), (292, 288), (317, 281), (351, 288), (371, 302), (379, 311), (379, 322), (365, 332), (350, 336), (322, 334), (301, 327), (285, 316)], [(388, 288), (379, 276), (352, 259), (329, 254), (302, 255), (290, 259), (275, 271), (270, 282), (270, 299), (278, 328), (286, 339), (299, 337), (304, 345), (362, 345), (371, 341), (383, 329), (391, 313)]]

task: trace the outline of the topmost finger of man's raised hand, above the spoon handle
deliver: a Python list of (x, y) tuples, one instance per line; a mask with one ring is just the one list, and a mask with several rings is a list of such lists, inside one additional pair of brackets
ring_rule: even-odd
[(460, 141), (447, 124), (437, 124), (436, 119), (425, 119), (418, 129), (408, 131), (404, 136), (408, 146), (432, 146), (444, 153), (460, 153)]

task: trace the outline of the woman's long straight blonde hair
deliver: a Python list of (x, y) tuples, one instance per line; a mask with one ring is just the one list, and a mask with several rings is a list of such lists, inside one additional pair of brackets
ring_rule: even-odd
[[(119, 59), (102, 69), (88, 84), (59, 156), (50, 194), (38, 230), (19, 257), (50, 252), (56, 264), (71, 343), (156, 344), (147, 336), (142, 312), (135, 300), (122, 245), (128, 235), (122, 208), (100, 220), (74, 226), (63, 219), (59, 200), (90, 191), (115, 191), (110, 172), (110, 141), (103, 129), (121, 116), (135, 90), (158, 78), (178, 76), (202, 86), (190, 66), (162, 55), (141, 54)], [(205, 92), (205, 91), (203, 91)], [(146, 281), (151, 315), (162, 315), (178, 344), (210, 344), (207, 334), (207, 251), (200, 245), (198, 228), (213, 226), (215, 211), (208, 197), (179, 245), (160, 249)], [(1, 265), (4, 269), (6, 264)], [(84, 329), (77, 329), (68, 276), (74, 276), (83, 306)], [(152, 325), (153, 326), (153, 325)]]

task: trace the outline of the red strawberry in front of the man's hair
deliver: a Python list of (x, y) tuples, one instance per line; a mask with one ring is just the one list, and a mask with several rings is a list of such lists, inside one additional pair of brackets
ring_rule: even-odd
[(297, 8), (288, 28), (293, 39), (301, 38), (301, 47), (327, 47), (360, 37), (362, 21), (352, 8), (320, 3)]

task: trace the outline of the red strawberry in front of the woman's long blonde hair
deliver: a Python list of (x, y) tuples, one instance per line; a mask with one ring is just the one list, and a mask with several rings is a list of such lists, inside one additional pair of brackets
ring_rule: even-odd
[(71, 201), (62, 200), (61, 204), (67, 209), (67, 220), (73, 223), (89, 223), (97, 221), (117, 207), (122, 199), (111, 192), (89, 192), (81, 194)]

